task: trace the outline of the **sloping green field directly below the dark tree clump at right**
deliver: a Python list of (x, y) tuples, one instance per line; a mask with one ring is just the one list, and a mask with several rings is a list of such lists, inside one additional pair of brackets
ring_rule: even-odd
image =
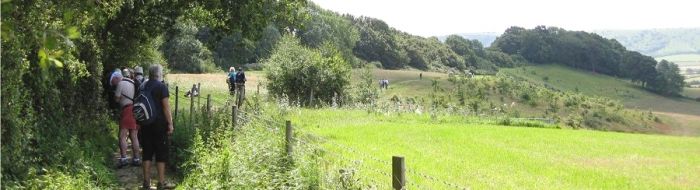
[(629, 108), (700, 116), (700, 102), (657, 95), (626, 80), (607, 75), (577, 71), (559, 65), (528, 66), (502, 71), (561, 90), (578, 90), (587, 95), (620, 100)]

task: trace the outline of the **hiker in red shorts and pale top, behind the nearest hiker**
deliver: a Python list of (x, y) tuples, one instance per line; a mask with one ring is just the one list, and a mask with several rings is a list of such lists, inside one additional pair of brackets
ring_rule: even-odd
[(128, 159), (126, 158), (127, 143), (126, 138), (129, 136), (131, 140), (131, 164), (134, 166), (139, 166), (141, 164), (141, 159), (139, 158), (139, 140), (138, 140), (138, 129), (136, 127), (136, 119), (134, 119), (134, 113), (132, 112), (134, 108), (134, 95), (136, 94), (136, 84), (130, 77), (131, 72), (127, 69), (122, 71), (124, 77), (117, 84), (117, 89), (114, 91), (114, 99), (119, 102), (121, 107), (120, 117), (119, 117), (119, 153), (121, 157), (119, 158), (119, 163), (117, 168), (122, 168), (128, 165)]

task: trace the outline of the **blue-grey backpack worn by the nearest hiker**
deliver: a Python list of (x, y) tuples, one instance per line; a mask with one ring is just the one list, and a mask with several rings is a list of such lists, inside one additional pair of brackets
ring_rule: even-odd
[(160, 114), (160, 108), (156, 105), (156, 100), (153, 98), (151, 88), (146, 88), (144, 83), (140, 89), (139, 95), (134, 98), (134, 118), (136, 123), (141, 126), (151, 125), (155, 123)]

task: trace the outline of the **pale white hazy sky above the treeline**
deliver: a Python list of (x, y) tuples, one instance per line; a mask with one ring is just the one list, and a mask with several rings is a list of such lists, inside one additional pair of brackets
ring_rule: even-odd
[(325, 9), (379, 18), (421, 36), (502, 33), (510, 26), (567, 30), (700, 27), (689, 0), (311, 0)]

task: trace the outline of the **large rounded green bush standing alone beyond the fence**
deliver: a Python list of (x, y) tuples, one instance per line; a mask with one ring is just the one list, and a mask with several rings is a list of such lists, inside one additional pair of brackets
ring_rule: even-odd
[(345, 93), (350, 65), (332, 46), (323, 51), (310, 49), (298, 39), (285, 36), (263, 61), (267, 89), (275, 97), (288, 96), (301, 105), (330, 104), (333, 97)]

